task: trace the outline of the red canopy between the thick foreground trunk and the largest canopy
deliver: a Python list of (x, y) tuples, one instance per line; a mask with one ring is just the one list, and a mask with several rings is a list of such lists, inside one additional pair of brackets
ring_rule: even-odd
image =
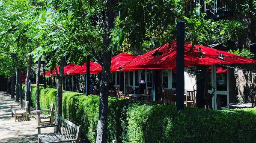
[(110, 72), (117, 72), (119, 67), (123, 66), (125, 63), (135, 59), (138, 56), (128, 53), (120, 53), (119, 55), (112, 57)]

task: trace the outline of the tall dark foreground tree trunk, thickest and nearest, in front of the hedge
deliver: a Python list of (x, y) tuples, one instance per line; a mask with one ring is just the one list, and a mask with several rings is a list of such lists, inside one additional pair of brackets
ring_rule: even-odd
[(107, 9), (105, 15), (105, 27), (103, 34), (103, 52), (101, 57), (102, 78), (100, 89), (100, 103), (98, 113), (98, 129), (96, 143), (107, 143), (107, 110), (108, 110), (108, 89), (110, 79), (110, 63), (111, 63), (111, 50), (108, 50), (111, 37), (110, 31), (113, 29), (114, 23), (114, 8), (116, 0), (107, 0)]

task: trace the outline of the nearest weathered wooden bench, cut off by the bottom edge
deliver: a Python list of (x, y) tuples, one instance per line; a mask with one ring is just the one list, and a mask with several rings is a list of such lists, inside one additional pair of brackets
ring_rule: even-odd
[[(50, 134), (41, 134), (41, 128), (56, 127), (56, 131)], [(81, 126), (71, 123), (59, 115), (58, 124), (52, 126), (38, 126), (38, 143), (79, 143)]]

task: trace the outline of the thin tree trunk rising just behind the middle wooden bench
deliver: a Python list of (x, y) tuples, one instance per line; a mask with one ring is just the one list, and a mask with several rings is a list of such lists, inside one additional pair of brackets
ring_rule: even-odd
[(36, 69), (36, 110), (40, 110), (40, 69), (41, 69), (41, 59), (42, 57), (39, 57), (37, 62), (37, 69)]

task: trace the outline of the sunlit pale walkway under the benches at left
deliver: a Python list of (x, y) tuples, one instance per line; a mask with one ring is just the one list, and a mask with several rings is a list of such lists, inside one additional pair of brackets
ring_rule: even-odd
[[(28, 121), (15, 122), (11, 114), (11, 105), (17, 105), (15, 99), (6, 92), (0, 92), (0, 143), (38, 143), (35, 109), (31, 109)], [(54, 128), (41, 129), (41, 133), (53, 132)]]

